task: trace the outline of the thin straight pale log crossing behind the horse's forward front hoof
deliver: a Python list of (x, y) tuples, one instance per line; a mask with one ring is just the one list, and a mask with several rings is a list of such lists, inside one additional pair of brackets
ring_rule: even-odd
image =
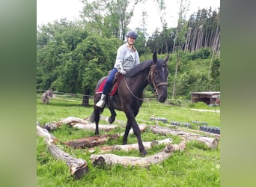
[[(168, 138), (165, 140), (159, 140), (159, 141), (143, 142), (144, 148), (146, 150), (152, 148), (154, 145), (171, 144), (171, 143), (172, 143), (171, 138)], [(113, 150), (130, 151), (130, 150), (138, 150), (138, 144), (112, 145), (112, 146), (104, 146), (104, 147), (98, 147), (98, 148), (100, 149), (100, 153), (107, 153), (107, 152), (111, 152)], [(95, 149), (91, 148), (91, 149), (89, 149), (89, 152), (94, 153)]]

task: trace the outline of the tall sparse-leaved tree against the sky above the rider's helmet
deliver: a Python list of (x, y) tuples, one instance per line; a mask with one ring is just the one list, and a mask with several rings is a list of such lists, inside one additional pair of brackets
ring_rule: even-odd
[(82, 18), (92, 31), (107, 36), (115, 36), (125, 40), (135, 5), (144, 0), (81, 0), (85, 4)]

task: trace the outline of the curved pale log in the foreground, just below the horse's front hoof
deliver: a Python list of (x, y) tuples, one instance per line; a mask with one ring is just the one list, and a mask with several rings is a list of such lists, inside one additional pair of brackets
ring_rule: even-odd
[(90, 159), (93, 165), (124, 165), (124, 166), (138, 166), (147, 168), (152, 164), (159, 164), (165, 159), (168, 159), (174, 151), (183, 151), (186, 147), (186, 138), (180, 141), (180, 144), (168, 144), (162, 152), (156, 153), (148, 157), (134, 157), (134, 156), (118, 156), (115, 154), (91, 155)]

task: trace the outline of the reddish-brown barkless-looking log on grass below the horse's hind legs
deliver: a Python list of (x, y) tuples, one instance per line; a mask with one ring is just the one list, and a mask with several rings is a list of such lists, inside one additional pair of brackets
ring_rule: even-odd
[(119, 138), (119, 134), (115, 135), (94, 135), (87, 138), (80, 138), (76, 140), (66, 141), (64, 144), (73, 147), (73, 149), (80, 149), (85, 147), (94, 147), (105, 144), (107, 141)]

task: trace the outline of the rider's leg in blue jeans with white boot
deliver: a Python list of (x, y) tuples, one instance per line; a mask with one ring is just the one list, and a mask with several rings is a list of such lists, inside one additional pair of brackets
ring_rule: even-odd
[(105, 99), (106, 99), (106, 95), (109, 93), (109, 91), (112, 88), (112, 82), (115, 78), (115, 73), (118, 72), (118, 69), (114, 68), (110, 73), (109, 76), (107, 78), (106, 84), (104, 85), (103, 88), (103, 93), (101, 94), (101, 98), (100, 100), (96, 103), (97, 107), (103, 108), (103, 105), (105, 104)]

